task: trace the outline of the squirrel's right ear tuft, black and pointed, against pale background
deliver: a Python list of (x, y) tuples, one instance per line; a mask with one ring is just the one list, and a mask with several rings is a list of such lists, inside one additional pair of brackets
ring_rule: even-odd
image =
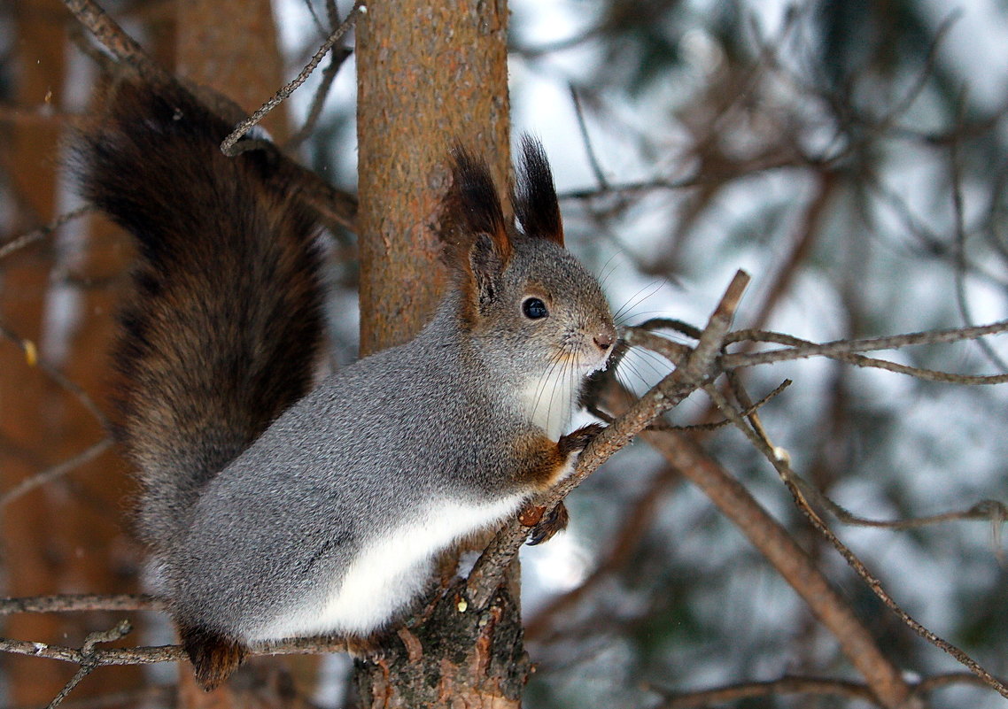
[(526, 236), (563, 246), (563, 224), (549, 160), (542, 143), (527, 134), (521, 137), (514, 209)]

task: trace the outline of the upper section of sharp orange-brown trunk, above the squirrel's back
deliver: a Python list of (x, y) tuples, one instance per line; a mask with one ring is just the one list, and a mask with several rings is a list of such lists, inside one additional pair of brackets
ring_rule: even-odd
[(448, 149), (508, 170), (504, 0), (375, 2), (357, 26), (361, 353), (408, 340), (445, 283)]

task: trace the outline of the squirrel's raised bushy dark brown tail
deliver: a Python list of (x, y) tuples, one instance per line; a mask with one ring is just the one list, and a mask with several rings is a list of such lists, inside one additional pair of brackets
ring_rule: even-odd
[(84, 196), (139, 246), (116, 351), (118, 433), (155, 548), (307, 391), (321, 338), (314, 222), (271, 150), (221, 153), (230, 130), (182, 89), (126, 83), (77, 142)]

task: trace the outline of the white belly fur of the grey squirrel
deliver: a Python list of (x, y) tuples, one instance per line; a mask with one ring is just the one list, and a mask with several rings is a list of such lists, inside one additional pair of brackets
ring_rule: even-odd
[(430, 576), (434, 555), (454, 541), (497, 524), (514, 513), (525, 495), (487, 505), (445, 501), (420, 522), (404, 525), (365, 547), (344, 578), (321, 602), (275, 618), (247, 640), (328, 633), (366, 635), (379, 629), (415, 598)]

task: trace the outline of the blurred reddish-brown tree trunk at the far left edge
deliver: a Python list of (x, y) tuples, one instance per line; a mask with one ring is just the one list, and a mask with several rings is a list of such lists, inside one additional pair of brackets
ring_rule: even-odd
[[(14, 101), (32, 113), (62, 108), (66, 10), (58, 0), (18, 2), (10, 31), (16, 37)], [(62, 122), (14, 120), (0, 127), (5, 196), (16, 205), (15, 232), (56, 214)], [(108, 231), (85, 235), (77, 223), (0, 262), (0, 319), (37, 347), (38, 362), (61, 372), (96, 401), (104, 399), (116, 300), (115, 276), (124, 267), (121, 241)], [(73, 235), (73, 236), (72, 236)], [(4, 236), (4, 241), (10, 235)], [(30, 351), (30, 346), (29, 346)], [(0, 475), (10, 490), (49, 466), (69, 460), (105, 436), (99, 419), (57, 378), (13, 342), (0, 341)], [(110, 453), (49, 480), (5, 505), (2, 514), (4, 592), (132, 590), (127, 573), (136, 559), (123, 539), (123, 500), (130, 498), (124, 466)], [(26, 613), (5, 618), (4, 634), (80, 646), (87, 632), (112, 627), (118, 614)], [(14, 706), (44, 706), (76, 668), (34, 658), (4, 658), (5, 698)], [(85, 683), (79, 696), (135, 686), (138, 668), (103, 673), (103, 685)]]

